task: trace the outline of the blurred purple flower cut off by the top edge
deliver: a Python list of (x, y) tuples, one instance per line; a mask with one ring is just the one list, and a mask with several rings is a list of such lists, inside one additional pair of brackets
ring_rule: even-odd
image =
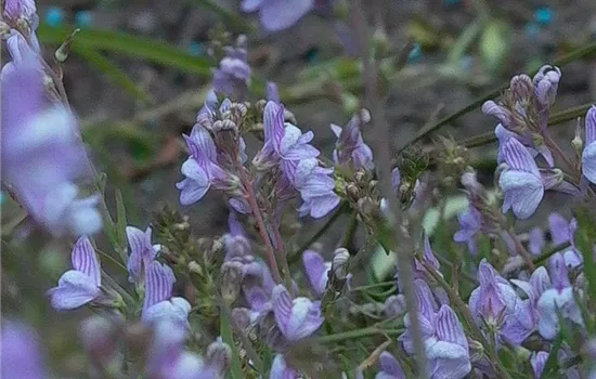
[(244, 12), (259, 11), (261, 25), (280, 31), (296, 24), (314, 8), (315, 0), (243, 0)]

